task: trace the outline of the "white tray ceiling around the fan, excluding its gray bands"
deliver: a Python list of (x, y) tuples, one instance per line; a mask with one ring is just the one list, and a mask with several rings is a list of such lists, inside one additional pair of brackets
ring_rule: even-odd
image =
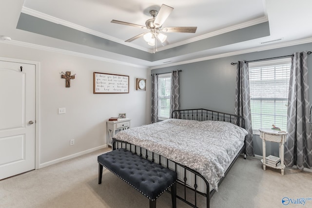
[[(114, 24), (110, 21), (117, 19), (145, 25), (145, 21), (151, 19), (149, 10), (159, 9), (161, 3), (174, 8), (162, 27), (197, 26), (197, 31), (195, 34), (166, 33), (169, 44), (165, 46), (157, 44), (156, 53), (266, 21), (269, 21), (270, 36), (215, 48), (201, 48), (183, 55), (162, 57), (159, 60), (146, 60), (120, 55), (105, 49), (90, 48), (62, 38), (56, 39), (36, 32), (16, 29), (20, 14), (24, 13), (112, 40), (144, 53), (151, 53), (153, 56), (153, 47), (149, 46), (143, 38), (138, 38), (131, 43), (124, 42), (146, 30)], [(10, 0), (1, 2), (0, 36), (11, 37), (10, 44), (58, 48), (94, 58), (107, 58), (117, 62), (157, 68), (312, 42), (311, 10), (311, 0), (165, 0), (163, 2), (158, 0)], [(261, 44), (275, 39), (280, 40)]]

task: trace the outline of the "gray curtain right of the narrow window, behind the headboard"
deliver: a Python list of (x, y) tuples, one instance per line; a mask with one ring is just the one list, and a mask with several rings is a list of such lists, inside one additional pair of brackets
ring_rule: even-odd
[(170, 118), (174, 110), (180, 110), (179, 70), (171, 73)]

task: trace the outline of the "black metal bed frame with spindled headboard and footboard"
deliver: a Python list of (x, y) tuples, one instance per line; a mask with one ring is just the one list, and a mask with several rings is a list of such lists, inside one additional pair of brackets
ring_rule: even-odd
[[(212, 110), (207, 110), (207, 109), (176, 110), (172, 112), (172, 118), (197, 120), (197, 121), (206, 121), (206, 120), (224, 121), (224, 122), (230, 122), (237, 126), (245, 128), (245, 119), (243, 117), (235, 115), (235, 114), (231, 114), (231, 113), (223, 113), (223, 112), (212, 111)], [(116, 150), (118, 148), (124, 148), (126, 150), (132, 151), (135, 154), (140, 155), (141, 157), (145, 157), (146, 159), (149, 159), (152, 162), (156, 162), (166, 168), (170, 168), (175, 171), (177, 171), (177, 169), (182, 168), (182, 170), (184, 170), (184, 177), (183, 179), (179, 178), (178, 183), (183, 186), (183, 190), (182, 190), (182, 195), (180, 195), (180, 193), (177, 193), (176, 198), (180, 199), (181, 201), (185, 202), (191, 207), (197, 208), (197, 195), (199, 194), (199, 195), (206, 197), (207, 208), (210, 208), (210, 199), (214, 195), (215, 189), (212, 189), (211, 191), (209, 191), (210, 189), (209, 189), (208, 181), (199, 172), (192, 170), (179, 163), (176, 163), (172, 160), (169, 160), (154, 152), (145, 150), (139, 146), (113, 138), (112, 149)], [(244, 141), (243, 147), (241, 148), (239, 153), (236, 155), (233, 162), (230, 164), (229, 168), (224, 173), (224, 176), (218, 182), (218, 186), (222, 183), (223, 179), (231, 170), (232, 166), (234, 165), (239, 155), (242, 153), (244, 153), (244, 159), (246, 159), (246, 139)], [(195, 184), (193, 187), (187, 184), (187, 181), (188, 181), (187, 171), (188, 171), (188, 175), (191, 173), (193, 175), (193, 178), (195, 178)], [(206, 193), (203, 193), (197, 190), (197, 177), (202, 178), (203, 181), (205, 182)], [(191, 190), (191, 192), (192, 191), (194, 192), (194, 198), (192, 198), (193, 200), (187, 199), (189, 198), (187, 197), (189, 194), (187, 190)], [(170, 191), (168, 190), (168, 192)]]

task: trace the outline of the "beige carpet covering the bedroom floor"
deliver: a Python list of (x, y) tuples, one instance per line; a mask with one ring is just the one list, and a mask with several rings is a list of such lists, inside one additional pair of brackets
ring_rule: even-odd
[[(103, 170), (98, 185), (97, 156), (109, 149), (95, 151), (40, 170), (33, 170), (0, 181), (0, 208), (148, 208), (149, 200), (113, 173)], [(294, 169), (262, 170), (260, 160), (239, 158), (219, 191), (211, 199), (212, 208), (301, 208), (285, 206), (282, 199), (311, 198), (312, 172)], [(200, 207), (204, 197), (198, 199)], [(171, 196), (157, 199), (157, 208), (171, 208)], [(177, 200), (178, 208), (189, 208)]]

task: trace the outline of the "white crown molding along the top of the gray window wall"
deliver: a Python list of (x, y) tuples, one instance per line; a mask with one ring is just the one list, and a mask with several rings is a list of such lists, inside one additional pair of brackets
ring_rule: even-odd
[(306, 38), (306, 39), (301, 39), (301, 40), (278, 43), (274, 45), (254, 47), (254, 48), (250, 48), (246, 50), (234, 51), (230, 53), (218, 54), (218, 55), (213, 55), (213, 56), (208, 56), (208, 57), (195, 58), (191, 60), (180, 61), (180, 62), (175, 62), (175, 63), (170, 63), (170, 64), (163, 64), (163, 65), (158, 65), (154, 67), (149, 67), (149, 69), (150, 70), (161, 69), (161, 68), (170, 67), (170, 66), (178, 66), (182, 64), (194, 63), (194, 62), (205, 61), (205, 60), (210, 60), (210, 59), (215, 59), (215, 58), (232, 57), (232, 56), (241, 55), (241, 54), (248, 54), (248, 53), (259, 52), (259, 51), (267, 51), (267, 50), (283, 48), (283, 47), (288, 47), (288, 46), (293, 46), (293, 45), (300, 45), (300, 44), (311, 43), (311, 42), (312, 42), (312, 38)]

